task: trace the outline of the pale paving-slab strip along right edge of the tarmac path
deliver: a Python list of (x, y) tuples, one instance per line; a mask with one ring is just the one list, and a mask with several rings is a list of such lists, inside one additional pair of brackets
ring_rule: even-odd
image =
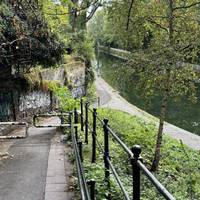
[(51, 143), (45, 200), (72, 200), (73, 192), (69, 191), (70, 177), (72, 176), (72, 165), (68, 160), (68, 153), (71, 149), (60, 143), (60, 136), (57, 134)]

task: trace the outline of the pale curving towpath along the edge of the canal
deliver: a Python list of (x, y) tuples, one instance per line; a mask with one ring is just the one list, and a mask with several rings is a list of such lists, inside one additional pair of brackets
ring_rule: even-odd
[[(136, 115), (148, 122), (156, 122), (158, 125), (158, 119), (156, 117), (130, 104), (102, 78), (96, 77), (95, 85), (97, 95), (100, 97), (101, 107), (121, 110), (131, 115)], [(200, 136), (198, 135), (192, 134), (167, 122), (164, 124), (164, 133), (175, 139), (182, 140), (184, 144), (193, 149), (200, 150)]]

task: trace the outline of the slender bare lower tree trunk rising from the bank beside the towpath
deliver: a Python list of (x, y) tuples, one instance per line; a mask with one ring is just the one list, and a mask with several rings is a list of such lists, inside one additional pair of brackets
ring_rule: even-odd
[(163, 126), (167, 112), (167, 103), (168, 103), (168, 91), (165, 91), (164, 97), (162, 99), (162, 107), (161, 107), (161, 114), (160, 114), (160, 122), (159, 122), (159, 129), (157, 134), (157, 142), (156, 148), (154, 153), (154, 159), (151, 166), (151, 171), (156, 171), (159, 166), (160, 161), (160, 149), (162, 144), (162, 137), (163, 137)]

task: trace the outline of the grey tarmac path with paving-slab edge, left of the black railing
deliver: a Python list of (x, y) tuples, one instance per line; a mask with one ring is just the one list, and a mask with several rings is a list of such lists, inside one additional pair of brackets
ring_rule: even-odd
[(30, 128), (28, 138), (9, 141), (12, 159), (0, 162), (0, 200), (71, 199), (71, 193), (66, 195), (64, 145), (51, 141), (57, 133), (55, 128)]

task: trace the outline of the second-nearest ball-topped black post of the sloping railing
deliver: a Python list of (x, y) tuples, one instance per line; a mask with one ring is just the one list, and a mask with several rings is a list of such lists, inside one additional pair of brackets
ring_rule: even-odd
[[(110, 159), (109, 153), (109, 131), (108, 131), (108, 119), (104, 119), (104, 165), (105, 165), (105, 182), (107, 183), (108, 190), (110, 190), (110, 166), (107, 158)], [(107, 199), (110, 199), (110, 193), (107, 196)]]

